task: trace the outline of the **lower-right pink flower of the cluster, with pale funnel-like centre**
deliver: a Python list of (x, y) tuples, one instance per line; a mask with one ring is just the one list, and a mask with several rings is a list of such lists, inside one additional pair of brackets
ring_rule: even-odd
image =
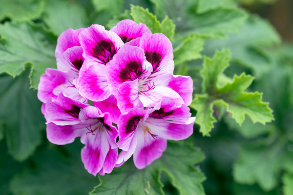
[(163, 99), (153, 108), (132, 108), (122, 114), (118, 122), (119, 154), (116, 166), (122, 165), (130, 156), (138, 169), (143, 169), (162, 156), (167, 139), (182, 140), (193, 132), (195, 117), (189, 108), (177, 106), (170, 99)]

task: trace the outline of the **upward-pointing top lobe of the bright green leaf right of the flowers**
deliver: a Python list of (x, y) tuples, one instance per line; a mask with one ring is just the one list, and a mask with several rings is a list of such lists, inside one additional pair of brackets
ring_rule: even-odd
[(217, 86), (218, 77), (229, 66), (230, 51), (216, 51), (212, 59), (205, 57), (200, 74), (203, 78), (202, 93), (210, 93)]

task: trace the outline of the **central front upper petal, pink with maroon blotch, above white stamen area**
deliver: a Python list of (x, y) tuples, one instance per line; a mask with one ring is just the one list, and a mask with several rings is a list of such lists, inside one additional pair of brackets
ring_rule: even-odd
[(116, 95), (120, 85), (126, 81), (146, 77), (152, 71), (151, 64), (146, 61), (144, 50), (135, 46), (123, 46), (107, 64), (109, 87)]

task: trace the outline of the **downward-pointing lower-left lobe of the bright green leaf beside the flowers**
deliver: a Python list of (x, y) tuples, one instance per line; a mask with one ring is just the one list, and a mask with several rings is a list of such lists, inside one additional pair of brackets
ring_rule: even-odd
[(200, 132), (204, 136), (210, 136), (209, 132), (217, 120), (212, 116), (213, 103), (207, 95), (196, 95), (189, 107), (197, 111), (195, 123), (200, 126)]

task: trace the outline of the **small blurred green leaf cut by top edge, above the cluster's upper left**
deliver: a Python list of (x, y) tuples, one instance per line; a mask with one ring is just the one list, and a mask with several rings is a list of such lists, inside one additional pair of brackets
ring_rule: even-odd
[(122, 12), (123, 0), (92, 0), (95, 9), (100, 11), (107, 11), (112, 15), (117, 15)]

